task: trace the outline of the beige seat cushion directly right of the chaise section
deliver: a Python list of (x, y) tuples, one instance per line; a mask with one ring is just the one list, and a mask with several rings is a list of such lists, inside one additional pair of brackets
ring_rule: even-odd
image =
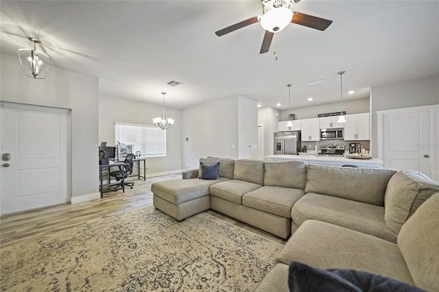
[(226, 182), (213, 184), (212, 188), (209, 188), (209, 192), (215, 197), (241, 205), (243, 195), (260, 187), (259, 184), (244, 182), (244, 180), (227, 180)]

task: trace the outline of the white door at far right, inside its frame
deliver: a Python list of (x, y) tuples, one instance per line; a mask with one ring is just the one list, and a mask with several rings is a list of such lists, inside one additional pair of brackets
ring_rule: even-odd
[(413, 169), (431, 176), (432, 110), (425, 107), (378, 111), (379, 158), (383, 167)]

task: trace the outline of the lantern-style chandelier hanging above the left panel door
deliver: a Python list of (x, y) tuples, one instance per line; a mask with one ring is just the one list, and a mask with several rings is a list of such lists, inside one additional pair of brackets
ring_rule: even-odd
[(45, 53), (36, 50), (36, 44), (41, 41), (38, 38), (29, 37), (34, 42), (34, 49), (19, 49), (21, 68), (26, 76), (34, 79), (45, 79), (49, 70), (50, 58)]

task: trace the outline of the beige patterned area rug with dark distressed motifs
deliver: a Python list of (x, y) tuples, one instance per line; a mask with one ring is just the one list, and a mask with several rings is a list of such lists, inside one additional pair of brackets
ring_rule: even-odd
[(1, 249), (1, 291), (253, 291), (283, 245), (153, 207)]

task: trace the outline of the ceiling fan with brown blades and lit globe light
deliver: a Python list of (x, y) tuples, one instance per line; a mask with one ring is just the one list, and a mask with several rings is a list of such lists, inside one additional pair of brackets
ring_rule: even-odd
[(234, 32), (237, 29), (246, 27), (253, 23), (261, 22), (261, 26), (265, 29), (261, 51), (259, 53), (267, 53), (270, 49), (272, 39), (275, 32), (280, 32), (289, 23), (296, 23), (298, 25), (305, 25), (313, 29), (323, 31), (331, 25), (332, 21), (327, 19), (320, 19), (320, 17), (311, 16), (300, 12), (292, 12), (289, 9), (290, 5), (297, 4), (300, 0), (261, 0), (262, 1), (262, 16), (254, 16), (246, 21), (241, 21), (234, 25), (230, 25), (224, 29), (219, 29), (215, 34), (217, 36), (224, 36), (229, 32)]

